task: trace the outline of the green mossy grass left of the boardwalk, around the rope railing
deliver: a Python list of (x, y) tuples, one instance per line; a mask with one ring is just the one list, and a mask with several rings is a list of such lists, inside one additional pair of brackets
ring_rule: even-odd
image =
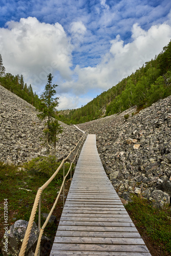
[[(55, 162), (53, 157), (36, 158), (24, 166), (4, 165), (0, 162), (0, 239), (4, 235), (4, 199), (8, 199), (8, 224), (11, 226), (17, 220), (29, 221), (31, 210), (38, 187), (42, 186), (55, 172), (60, 162)], [(65, 163), (65, 174), (69, 170), (70, 163)], [(72, 168), (73, 172), (73, 168)], [(58, 195), (62, 183), (63, 167), (42, 192), (41, 212), (48, 213)], [(68, 175), (68, 179), (70, 175)], [(25, 188), (30, 189), (27, 191)], [(56, 210), (62, 208), (62, 195), (57, 203)], [(55, 211), (55, 210), (54, 210)], [(54, 214), (54, 213), (53, 213)], [(58, 215), (56, 211), (54, 215)], [(38, 224), (38, 213), (35, 222)], [(41, 220), (41, 225), (45, 220)], [(56, 232), (56, 225), (48, 224), (44, 235), (53, 237)], [(0, 254), (2, 255), (2, 254)]]

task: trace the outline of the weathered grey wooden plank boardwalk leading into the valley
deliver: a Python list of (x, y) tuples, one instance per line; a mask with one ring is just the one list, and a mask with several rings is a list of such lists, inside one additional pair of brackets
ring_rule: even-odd
[(78, 159), (50, 256), (150, 256), (88, 135)]

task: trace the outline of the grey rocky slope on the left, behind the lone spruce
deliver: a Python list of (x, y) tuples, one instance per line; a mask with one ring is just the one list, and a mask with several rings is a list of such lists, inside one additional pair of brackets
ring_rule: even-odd
[[(0, 85), (0, 161), (15, 165), (47, 154), (44, 145), (44, 122), (34, 106)], [(82, 133), (60, 122), (57, 158), (61, 160), (75, 146)]]

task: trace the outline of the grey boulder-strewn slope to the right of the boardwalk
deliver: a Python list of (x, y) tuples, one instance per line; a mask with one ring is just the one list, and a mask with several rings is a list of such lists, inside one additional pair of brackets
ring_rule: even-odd
[(96, 134), (104, 169), (119, 196), (130, 200), (131, 193), (139, 194), (163, 206), (171, 196), (171, 96), (135, 112), (78, 126)]

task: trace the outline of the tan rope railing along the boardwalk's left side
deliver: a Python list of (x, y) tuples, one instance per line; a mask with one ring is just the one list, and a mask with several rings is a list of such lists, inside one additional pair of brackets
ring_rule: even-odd
[[(32, 208), (32, 211), (31, 211), (29, 223), (28, 223), (28, 226), (27, 226), (27, 230), (26, 230), (26, 233), (25, 233), (25, 237), (24, 237), (22, 247), (20, 249), (20, 252), (19, 252), (18, 256), (24, 256), (25, 255), (27, 244), (28, 244), (28, 241), (29, 241), (30, 233), (31, 233), (31, 229), (32, 229), (33, 222), (34, 222), (34, 219), (35, 219), (37, 207), (38, 207), (38, 241), (37, 241), (37, 246), (36, 246), (34, 255), (35, 256), (40, 255), (40, 242), (41, 242), (42, 234), (43, 234), (44, 229), (45, 229), (45, 227), (46, 227), (46, 225), (47, 225), (47, 223), (48, 223), (48, 221), (49, 221), (49, 219), (52, 215), (52, 212), (53, 212), (53, 210), (54, 210), (54, 208), (57, 204), (57, 201), (59, 199), (59, 196), (61, 194), (62, 189), (63, 189), (63, 206), (64, 206), (64, 203), (65, 203), (65, 197), (64, 197), (65, 196), (65, 193), (64, 193), (64, 191), (65, 191), (65, 180), (66, 180), (66, 178), (67, 178), (67, 176), (69, 175), (70, 172), (71, 172), (71, 178), (72, 178), (72, 164), (74, 163), (74, 166), (76, 165), (76, 157), (77, 157), (77, 160), (78, 160), (78, 155), (80, 154), (81, 147), (82, 147), (82, 144), (83, 144), (84, 140), (86, 139), (86, 136), (87, 136), (87, 132), (83, 134), (83, 136), (77, 142), (76, 146), (69, 153), (69, 155), (65, 159), (62, 160), (59, 167), (56, 169), (55, 173), (51, 176), (51, 178), (44, 185), (42, 185), (41, 187), (38, 188), (37, 194), (36, 194), (36, 197), (35, 197), (35, 200), (34, 200), (33, 208)], [(72, 160), (72, 153), (74, 153), (73, 160)], [(68, 173), (65, 176), (65, 161), (67, 161), (69, 159), (69, 157), (70, 157), (70, 168), (68, 170)], [(54, 202), (54, 204), (53, 204), (53, 206), (52, 206), (52, 208), (49, 212), (49, 215), (48, 215), (45, 223), (42, 225), (42, 227), (40, 227), (41, 226), (41, 194), (42, 194), (42, 191), (55, 178), (55, 176), (58, 174), (58, 172), (59, 172), (59, 170), (61, 169), (62, 166), (63, 166), (63, 182), (61, 184), (58, 196), (56, 197), (56, 200), (55, 200), (55, 202)]]

